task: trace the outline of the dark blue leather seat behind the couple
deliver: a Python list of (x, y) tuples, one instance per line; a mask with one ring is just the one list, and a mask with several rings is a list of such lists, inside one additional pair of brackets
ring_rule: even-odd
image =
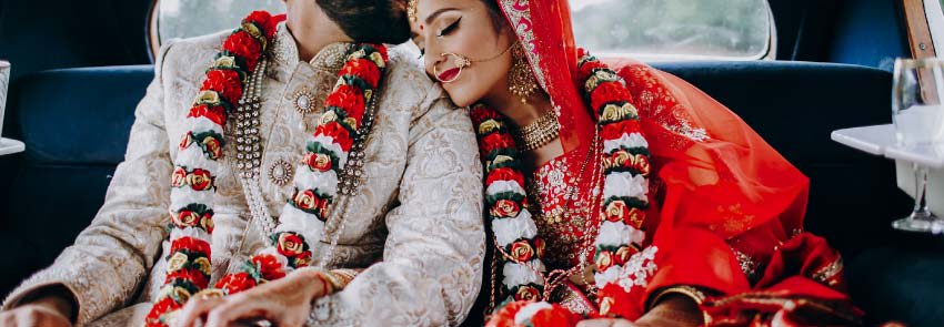
[[(726, 104), (810, 176), (807, 228), (843, 252), (870, 320), (944, 320), (935, 296), (944, 292), (944, 254), (926, 251), (940, 241), (888, 227), (910, 210), (892, 163), (830, 141), (836, 129), (890, 122), (888, 72), (771, 61), (656, 67)], [(27, 151), (0, 157), (0, 167), (10, 167), (0, 173), (0, 246), (22, 251), (4, 256), (10, 268), (0, 274), (0, 293), (50, 264), (89, 225), (152, 76), (151, 67), (135, 65), (47, 71), (16, 82), (7, 131)]]

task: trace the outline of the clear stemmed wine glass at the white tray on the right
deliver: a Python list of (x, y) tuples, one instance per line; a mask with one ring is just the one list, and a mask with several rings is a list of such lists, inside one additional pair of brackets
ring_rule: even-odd
[[(898, 59), (892, 85), (892, 121), (895, 137), (904, 149), (928, 149), (944, 143), (944, 60)], [(937, 232), (944, 219), (928, 208), (925, 197), (927, 168), (912, 163), (914, 210), (892, 226), (908, 232)]]

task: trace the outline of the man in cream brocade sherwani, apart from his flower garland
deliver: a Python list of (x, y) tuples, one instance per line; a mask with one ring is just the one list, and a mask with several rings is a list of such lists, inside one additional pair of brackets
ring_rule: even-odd
[[(283, 215), (294, 193), (290, 181), (311, 174), (301, 172), (299, 163), (352, 42), (400, 43), (409, 38), (398, 0), (285, 2), (287, 20), (268, 44), (268, 69), (255, 85), (261, 106), (227, 123), (224, 155), (213, 182), (212, 284), (267, 246), (269, 235), (259, 221)], [(52, 266), (7, 297), (0, 325), (141, 325), (167, 278), (168, 208), (179, 200), (171, 196), (170, 182), (183, 153), (178, 150), (180, 135), (188, 131), (191, 103), (229, 34), (163, 45), (104, 205)], [(273, 310), (312, 311), (304, 313), (308, 324), (319, 326), (445, 326), (464, 319), (480, 288), (485, 248), (478, 147), (465, 111), (448, 100), (414, 59), (408, 50), (390, 49), (383, 86), (373, 95), (373, 127), (361, 152), (348, 159), (360, 171), (345, 174), (339, 182), (343, 186), (321, 186), (348, 190), (333, 198), (324, 227), (331, 237), (310, 242), (313, 260), (331, 254), (324, 259), (328, 270), (294, 270), (217, 303), (191, 299), (182, 316), (214, 306), (238, 311), (233, 305), (253, 298), (249, 303)], [(252, 127), (231, 131), (243, 126)], [(237, 136), (243, 132), (255, 141)], [(250, 166), (258, 167), (254, 178), (245, 177), (253, 175)], [(331, 287), (319, 283), (324, 276), (334, 276)], [(221, 303), (237, 297), (243, 302)], [(219, 318), (214, 313), (211, 320)], [(260, 316), (284, 318), (278, 314)]]

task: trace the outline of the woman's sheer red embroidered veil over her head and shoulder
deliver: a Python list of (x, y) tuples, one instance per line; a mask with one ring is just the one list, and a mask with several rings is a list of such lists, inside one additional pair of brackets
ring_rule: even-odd
[[(582, 157), (595, 126), (589, 99), (580, 95), (566, 0), (496, 1), (530, 52), (532, 71), (561, 111), (565, 155)], [(632, 93), (653, 156), (653, 205), (643, 229), (645, 246), (657, 248), (659, 269), (646, 287), (632, 289), (643, 296), (634, 296), (636, 308), (627, 311), (644, 313), (650, 295), (674, 285), (697, 286), (720, 296), (776, 289), (784, 297), (847, 302), (837, 290), (841, 274), (831, 285), (810, 278), (810, 267), (837, 254), (821, 238), (800, 234), (806, 176), (737, 115), (685, 81), (635, 61), (607, 63)], [(582, 160), (568, 162), (569, 173), (576, 174)], [(591, 180), (581, 176), (582, 196), (589, 194)], [(763, 275), (754, 286), (733, 249), (769, 265), (759, 272)]]

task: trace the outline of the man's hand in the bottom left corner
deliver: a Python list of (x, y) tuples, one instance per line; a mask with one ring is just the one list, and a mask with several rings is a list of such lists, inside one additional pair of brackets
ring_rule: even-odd
[(0, 311), (0, 326), (13, 327), (71, 327), (71, 304), (59, 296), (48, 296)]

